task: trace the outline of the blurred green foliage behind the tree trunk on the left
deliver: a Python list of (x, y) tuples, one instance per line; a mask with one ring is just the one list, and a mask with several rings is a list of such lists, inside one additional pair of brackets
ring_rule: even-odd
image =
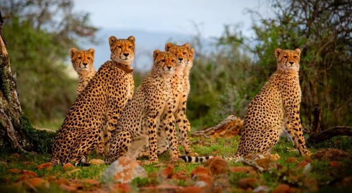
[[(65, 64), (68, 49), (94, 38), (89, 15), (70, 0), (1, 1), (12, 70), (23, 111), (34, 122), (63, 119), (75, 98), (76, 80)], [(62, 121), (62, 120), (61, 120)]]

